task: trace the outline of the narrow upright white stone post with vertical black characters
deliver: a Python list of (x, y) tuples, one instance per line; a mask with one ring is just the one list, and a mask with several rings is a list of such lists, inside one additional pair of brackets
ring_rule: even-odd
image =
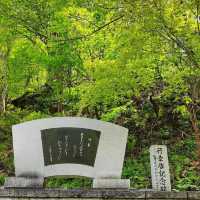
[(152, 145), (150, 147), (151, 179), (153, 190), (171, 191), (167, 147)]

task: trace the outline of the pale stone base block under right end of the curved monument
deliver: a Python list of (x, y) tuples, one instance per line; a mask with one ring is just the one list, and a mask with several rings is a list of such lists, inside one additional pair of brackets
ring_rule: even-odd
[(129, 179), (94, 179), (93, 188), (130, 188)]

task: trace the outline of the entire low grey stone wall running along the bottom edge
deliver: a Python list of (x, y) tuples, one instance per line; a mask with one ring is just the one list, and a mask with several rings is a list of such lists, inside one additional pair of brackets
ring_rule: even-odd
[(0, 189), (0, 200), (200, 200), (200, 192), (152, 192), (122, 189)]

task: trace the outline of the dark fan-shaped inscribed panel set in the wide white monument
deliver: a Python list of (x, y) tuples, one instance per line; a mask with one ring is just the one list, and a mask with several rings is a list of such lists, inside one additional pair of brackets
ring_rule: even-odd
[(41, 130), (45, 166), (64, 163), (94, 166), (100, 134), (83, 128)]

